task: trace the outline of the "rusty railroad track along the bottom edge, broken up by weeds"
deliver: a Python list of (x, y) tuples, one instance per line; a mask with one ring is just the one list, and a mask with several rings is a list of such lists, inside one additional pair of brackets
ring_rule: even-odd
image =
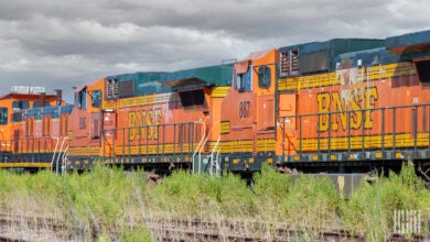
[[(23, 224), (23, 221), (31, 221)], [(46, 227), (46, 221), (50, 221)], [(26, 232), (14, 234), (8, 231), (8, 226), (19, 224), (25, 227)], [(197, 221), (197, 220), (161, 220), (143, 219), (139, 226), (147, 228), (151, 233), (162, 241), (237, 241), (237, 242), (271, 242), (271, 241), (301, 241), (303, 239), (312, 241), (366, 241), (364, 234), (351, 234), (343, 230), (312, 230), (293, 229), (287, 224), (262, 223), (258, 221), (237, 222), (237, 221)], [(42, 230), (41, 230), (42, 229)], [(47, 230), (46, 230), (47, 229)], [(249, 231), (255, 231), (249, 234)], [(13, 218), (0, 213), (0, 242), (25, 242), (25, 241), (68, 241), (76, 234), (60, 235), (62, 230), (78, 231), (78, 228), (65, 228), (58, 226), (53, 219), (46, 218)], [(41, 234), (45, 231), (46, 234)], [(248, 234), (247, 234), (248, 233)], [(75, 235), (75, 237), (74, 237)], [(96, 234), (92, 237), (97, 238)], [(116, 238), (117, 234), (112, 234)], [(429, 241), (430, 237), (415, 235), (406, 238), (401, 234), (390, 234), (388, 241)]]

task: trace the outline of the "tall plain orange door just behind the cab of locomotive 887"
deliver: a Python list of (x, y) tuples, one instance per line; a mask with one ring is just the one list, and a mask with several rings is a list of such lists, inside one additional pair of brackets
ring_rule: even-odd
[(295, 94), (279, 95), (278, 141), (282, 145), (282, 154), (295, 154), (297, 152), (297, 118)]

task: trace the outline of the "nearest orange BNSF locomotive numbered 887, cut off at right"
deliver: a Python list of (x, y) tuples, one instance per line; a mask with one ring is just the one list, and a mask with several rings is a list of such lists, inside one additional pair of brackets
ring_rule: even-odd
[(429, 59), (430, 31), (252, 53), (222, 105), (224, 168), (367, 173), (409, 160), (429, 178)]

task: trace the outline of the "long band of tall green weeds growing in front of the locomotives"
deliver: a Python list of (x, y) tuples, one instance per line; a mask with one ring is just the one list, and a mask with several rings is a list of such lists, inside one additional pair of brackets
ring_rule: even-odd
[[(276, 227), (309, 230), (345, 229), (380, 241), (393, 232), (394, 210), (420, 210), (430, 217), (430, 191), (413, 167), (364, 184), (348, 200), (329, 178), (292, 178), (269, 166), (249, 187), (238, 176), (175, 172), (161, 184), (147, 184), (141, 170), (96, 167), (57, 176), (0, 170), (0, 212), (54, 219), (76, 240), (154, 241), (144, 219), (249, 223), (249, 234), (267, 235)], [(267, 224), (256, 229), (252, 222)], [(427, 229), (427, 228), (423, 228)], [(429, 232), (429, 231), (423, 231)], [(302, 238), (303, 239), (303, 238)]]

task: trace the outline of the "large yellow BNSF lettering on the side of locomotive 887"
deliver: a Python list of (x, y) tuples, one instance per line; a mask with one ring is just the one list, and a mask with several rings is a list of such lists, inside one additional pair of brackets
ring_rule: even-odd
[[(362, 125), (365, 129), (372, 129), (374, 127), (374, 120), (370, 113), (378, 100), (378, 92), (376, 87), (368, 87), (364, 89), (354, 89), (348, 97), (341, 97), (338, 91), (323, 92), (316, 95), (318, 112), (319, 116), (319, 130), (321, 132), (327, 131), (330, 125), (332, 131), (338, 131), (342, 128), (344, 131), (347, 129), (347, 116), (351, 113), (351, 129), (357, 130)], [(346, 100), (345, 100), (346, 99)], [(364, 100), (363, 100), (364, 99)], [(332, 110), (331, 110), (332, 109)], [(351, 110), (352, 112), (346, 112)], [(329, 123), (330, 111), (340, 112), (332, 114), (331, 123)]]

